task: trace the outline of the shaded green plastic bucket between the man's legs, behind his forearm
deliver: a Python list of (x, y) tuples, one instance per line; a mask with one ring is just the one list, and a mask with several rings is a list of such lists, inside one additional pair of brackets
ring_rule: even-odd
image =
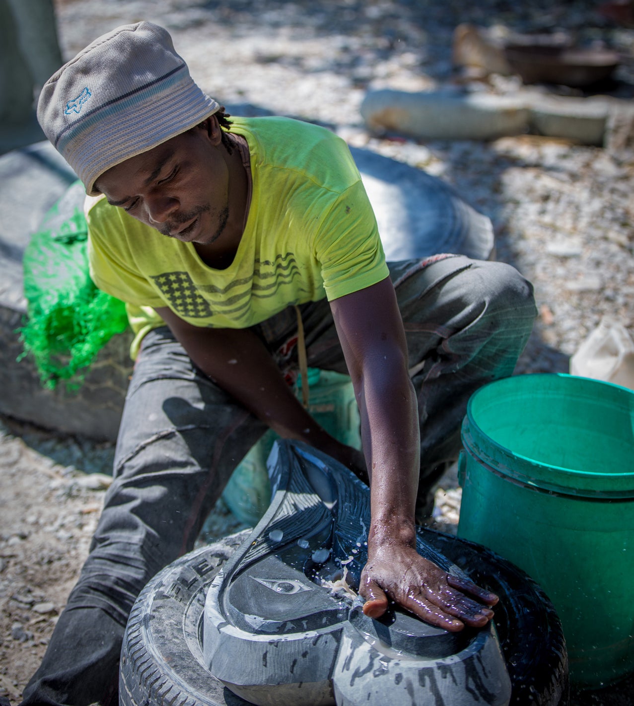
[[(361, 448), (359, 408), (349, 376), (309, 368), (309, 412), (338, 441)], [(301, 378), (296, 391), (301, 397)], [(232, 514), (246, 525), (256, 525), (270, 504), (266, 460), (278, 436), (267, 431), (251, 448), (225, 486), (222, 499)]]

